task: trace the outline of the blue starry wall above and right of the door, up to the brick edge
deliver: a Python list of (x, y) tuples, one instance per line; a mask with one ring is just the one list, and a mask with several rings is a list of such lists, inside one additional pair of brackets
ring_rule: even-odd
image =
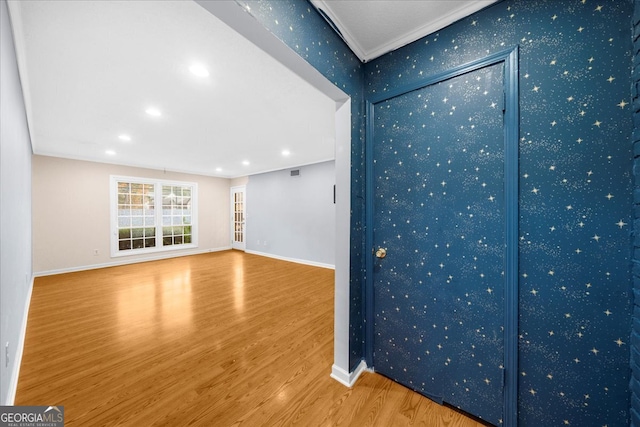
[[(622, 114), (630, 60), (621, 58), (630, 43), (607, 23), (629, 22), (630, 13), (611, 2), (507, 1), (366, 68), (380, 93), (520, 47), (524, 425), (628, 420), (632, 128)], [(454, 39), (455, 54), (442, 43)]]

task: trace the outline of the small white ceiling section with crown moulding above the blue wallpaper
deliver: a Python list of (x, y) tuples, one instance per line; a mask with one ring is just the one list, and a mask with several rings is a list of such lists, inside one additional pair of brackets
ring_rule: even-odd
[(310, 0), (361, 61), (435, 33), (499, 0)]

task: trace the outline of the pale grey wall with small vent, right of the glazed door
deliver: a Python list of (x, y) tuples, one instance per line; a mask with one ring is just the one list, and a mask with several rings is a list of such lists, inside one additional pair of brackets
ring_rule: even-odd
[(335, 177), (333, 161), (250, 176), (247, 252), (333, 268)]

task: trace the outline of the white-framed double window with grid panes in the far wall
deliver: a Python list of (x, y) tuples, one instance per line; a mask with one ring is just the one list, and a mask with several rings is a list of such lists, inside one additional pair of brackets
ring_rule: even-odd
[(111, 177), (111, 255), (196, 247), (197, 184)]

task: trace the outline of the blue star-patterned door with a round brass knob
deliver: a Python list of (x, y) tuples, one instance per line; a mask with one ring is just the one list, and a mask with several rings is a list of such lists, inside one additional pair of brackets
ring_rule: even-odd
[(494, 425), (505, 405), (512, 249), (504, 87), (496, 63), (369, 110), (373, 367)]

